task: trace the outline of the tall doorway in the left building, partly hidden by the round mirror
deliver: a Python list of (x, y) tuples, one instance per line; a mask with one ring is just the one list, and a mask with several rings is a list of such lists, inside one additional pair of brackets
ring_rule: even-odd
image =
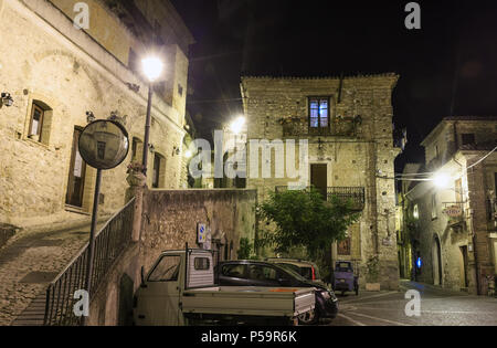
[(78, 141), (83, 129), (74, 128), (73, 146), (71, 151), (71, 165), (67, 181), (65, 203), (67, 205), (83, 208), (83, 193), (86, 177), (86, 164), (80, 155)]

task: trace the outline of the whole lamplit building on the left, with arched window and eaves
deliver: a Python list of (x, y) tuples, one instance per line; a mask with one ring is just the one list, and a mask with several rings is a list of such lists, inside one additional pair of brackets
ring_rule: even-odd
[(34, 229), (87, 219), (96, 171), (76, 146), (87, 112), (126, 120), (130, 150), (104, 172), (101, 211), (124, 205), (126, 167), (142, 151), (148, 88), (139, 62), (151, 51), (166, 71), (155, 85), (148, 184), (186, 184), (193, 38), (169, 1), (0, 0), (0, 91), (14, 101), (0, 108), (0, 223)]

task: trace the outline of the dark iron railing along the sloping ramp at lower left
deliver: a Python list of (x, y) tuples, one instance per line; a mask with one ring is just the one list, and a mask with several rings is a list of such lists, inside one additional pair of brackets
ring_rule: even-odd
[[(93, 257), (93, 275), (91, 280), (91, 298), (98, 289), (117, 257), (131, 241), (133, 214), (135, 199), (116, 213), (97, 233)], [(45, 326), (74, 326), (82, 324), (73, 307), (75, 292), (86, 288), (86, 271), (88, 244), (86, 244), (72, 262), (62, 271), (46, 289)]]

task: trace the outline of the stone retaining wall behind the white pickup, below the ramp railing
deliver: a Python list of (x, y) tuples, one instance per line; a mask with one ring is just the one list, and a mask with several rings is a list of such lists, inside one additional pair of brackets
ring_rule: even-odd
[[(92, 326), (130, 325), (133, 296), (161, 252), (199, 247), (197, 223), (207, 223), (213, 238), (228, 243), (236, 259), (241, 238), (254, 240), (256, 192), (251, 190), (146, 191), (138, 242), (110, 268), (91, 304)], [(221, 255), (222, 260), (223, 255)]]

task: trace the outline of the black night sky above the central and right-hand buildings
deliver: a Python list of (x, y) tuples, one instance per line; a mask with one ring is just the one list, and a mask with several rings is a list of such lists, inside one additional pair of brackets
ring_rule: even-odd
[(497, 115), (497, 1), (417, 1), (422, 29), (404, 27), (408, 0), (171, 0), (197, 40), (188, 108), (203, 136), (242, 112), (240, 76), (395, 72), (394, 123), (408, 127), (398, 160), (423, 160), (420, 141), (445, 116)]

